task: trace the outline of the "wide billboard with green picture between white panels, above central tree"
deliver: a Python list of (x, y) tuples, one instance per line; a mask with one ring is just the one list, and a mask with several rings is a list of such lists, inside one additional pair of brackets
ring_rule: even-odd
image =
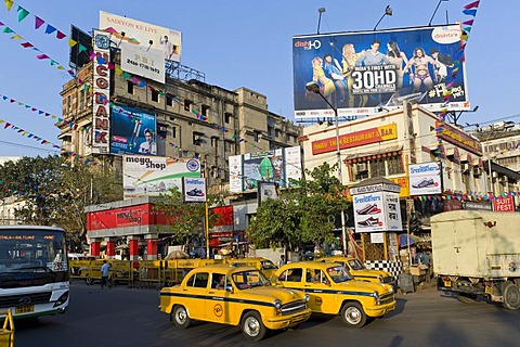
[(230, 156), (230, 191), (256, 191), (259, 181), (291, 187), (289, 179), (301, 179), (299, 146)]

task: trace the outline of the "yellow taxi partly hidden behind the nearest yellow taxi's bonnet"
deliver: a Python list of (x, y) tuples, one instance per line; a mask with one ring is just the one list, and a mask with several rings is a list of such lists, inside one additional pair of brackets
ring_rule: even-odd
[(272, 282), (306, 292), (313, 312), (339, 313), (343, 322), (353, 327), (363, 326), (367, 318), (382, 317), (395, 309), (390, 285), (356, 281), (339, 264), (290, 262), (275, 272)]

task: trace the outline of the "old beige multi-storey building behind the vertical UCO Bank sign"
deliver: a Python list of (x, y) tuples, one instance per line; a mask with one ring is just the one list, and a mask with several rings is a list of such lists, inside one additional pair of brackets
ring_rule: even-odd
[[(117, 50), (114, 52), (118, 66), (120, 55)], [(180, 74), (181, 69), (186, 73)], [(247, 88), (231, 91), (208, 85), (204, 74), (179, 64), (167, 65), (164, 85), (116, 72), (110, 70), (110, 105), (154, 114), (157, 155), (199, 158), (210, 187), (222, 188), (229, 182), (230, 156), (297, 145), (302, 131), (301, 126), (268, 111), (265, 95)], [(96, 98), (91, 89), (93, 75), (94, 63), (90, 62), (78, 72), (78, 79), (63, 87), (64, 121), (58, 125), (62, 149), (81, 156), (104, 156), (105, 163), (120, 167), (120, 156), (92, 151), (92, 104)], [(182, 79), (181, 75), (190, 79)]]

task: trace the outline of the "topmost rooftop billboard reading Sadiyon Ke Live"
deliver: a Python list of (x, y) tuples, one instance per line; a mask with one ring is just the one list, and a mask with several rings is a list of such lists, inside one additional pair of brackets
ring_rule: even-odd
[(159, 50), (166, 60), (181, 61), (181, 31), (104, 11), (100, 11), (100, 28), (113, 33), (118, 41)]

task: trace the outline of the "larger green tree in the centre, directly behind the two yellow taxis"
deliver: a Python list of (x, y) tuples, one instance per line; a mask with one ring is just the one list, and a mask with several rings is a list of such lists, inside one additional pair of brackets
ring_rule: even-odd
[(324, 163), (302, 179), (298, 188), (282, 191), (277, 200), (268, 200), (257, 209), (257, 216), (246, 233), (257, 247), (286, 247), (297, 250), (303, 244), (320, 246), (332, 243), (334, 217), (350, 203), (344, 187), (333, 176), (337, 165)]

